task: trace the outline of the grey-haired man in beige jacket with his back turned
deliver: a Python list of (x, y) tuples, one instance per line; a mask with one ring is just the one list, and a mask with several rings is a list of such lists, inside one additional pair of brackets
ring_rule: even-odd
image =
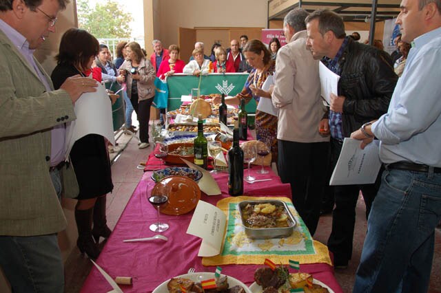
[(272, 94), (278, 108), (278, 173), (291, 184), (292, 201), (314, 235), (325, 186), (329, 136), (318, 132), (325, 107), (320, 98), (318, 61), (306, 49), (305, 10), (291, 10), (283, 30), (289, 43), (276, 58)]

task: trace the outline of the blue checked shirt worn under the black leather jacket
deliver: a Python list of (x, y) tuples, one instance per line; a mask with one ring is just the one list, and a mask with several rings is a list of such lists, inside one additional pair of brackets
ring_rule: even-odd
[[(343, 41), (340, 47), (340, 50), (338, 50), (336, 56), (333, 59), (326, 56), (322, 58), (322, 61), (325, 61), (324, 64), (327, 64), (327, 67), (332, 72), (338, 75), (342, 73), (342, 69), (338, 61), (340, 61), (343, 52), (345, 52), (346, 50), (348, 38), (349, 36), (345, 38), (345, 41)], [(331, 131), (331, 137), (338, 140), (343, 140), (345, 138), (345, 135), (343, 135), (342, 113), (337, 113), (329, 110), (329, 130)]]

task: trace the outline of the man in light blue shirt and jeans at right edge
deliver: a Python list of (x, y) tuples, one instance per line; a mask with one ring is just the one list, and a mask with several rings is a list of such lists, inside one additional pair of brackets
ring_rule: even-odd
[(441, 219), (441, 0), (402, 0), (396, 23), (413, 43), (389, 110), (351, 134), (380, 140), (386, 166), (353, 292), (428, 292)]

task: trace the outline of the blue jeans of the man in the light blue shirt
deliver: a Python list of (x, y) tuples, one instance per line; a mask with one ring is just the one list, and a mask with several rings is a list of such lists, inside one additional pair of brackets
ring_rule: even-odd
[(441, 173), (384, 171), (353, 292), (427, 292), (440, 219)]

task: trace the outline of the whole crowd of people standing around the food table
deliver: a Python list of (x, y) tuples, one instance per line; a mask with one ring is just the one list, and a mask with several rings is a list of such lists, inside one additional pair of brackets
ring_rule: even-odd
[[(105, 217), (113, 189), (105, 138), (85, 135), (65, 153), (76, 100), (103, 80), (125, 84), (125, 126), (136, 132), (130, 121), (135, 111), (139, 148), (145, 149), (154, 80), (181, 72), (249, 72), (243, 90), (225, 102), (268, 99), (277, 109), (276, 115), (256, 111), (256, 135), (271, 147), (311, 235), (328, 170), (336, 166), (345, 138), (360, 140), (361, 148), (379, 140), (383, 166), (376, 182), (331, 189), (335, 206), (327, 245), (336, 268), (347, 267), (361, 191), (368, 226), (353, 292), (427, 292), (441, 219), (441, 0), (402, 1), (396, 21), (401, 34), (391, 55), (359, 43), (359, 35), (347, 36), (335, 12), (297, 9), (283, 21), (283, 47), (278, 39), (265, 45), (243, 35), (227, 49), (215, 43), (207, 56), (197, 42), (187, 64), (177, 45), (164, 49), (158, 40), (150, 58), (139, 43), (123, 42), (111, 61), (107, 45), (71, 28), (48, 76), (32, 54), (55, 31), (67, 2), (0, 1), (0, 265), (13, 292), (63, 292), (57, 243), (66, 228), (62, 195), (78, 199), (81, 252), (96, 259), (96, 243), (112, 232)], [(320, 62), (340, 76), (329, 105), (320, 97)], [(271, 79), (271, 87), (262, 89)]]

